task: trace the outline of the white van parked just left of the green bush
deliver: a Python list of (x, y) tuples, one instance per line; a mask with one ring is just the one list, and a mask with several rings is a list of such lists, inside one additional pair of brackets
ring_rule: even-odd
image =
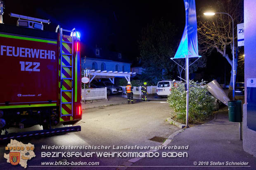
[[(180, 82), (175, 80), (175, 82)], [(173, 80), (163, 80), (157, 83), (156, 94), (160, 97), (167, 97), (171, 94), (171, 84)]]

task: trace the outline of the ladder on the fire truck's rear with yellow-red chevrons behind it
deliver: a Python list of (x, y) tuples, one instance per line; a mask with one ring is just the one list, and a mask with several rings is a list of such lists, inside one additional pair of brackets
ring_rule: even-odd
[[(63, 35), (70, 32), (70, 35)], [(73, 116), (73, 30), (60, 28), (60, 117)]]

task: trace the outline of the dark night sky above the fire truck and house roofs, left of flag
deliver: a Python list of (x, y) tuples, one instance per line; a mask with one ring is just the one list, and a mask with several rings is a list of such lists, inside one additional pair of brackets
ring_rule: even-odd
[[(141, 29), (152, 20), (163, 18), (174, 23), (182, 36), (185, 26), (183, 0), (161, 1), (112, 1), (112, 0), (4, 0), (4, 23), (16, 25), (17, 18), (10, 18), (10, 12), (40, 19), (49, 19), (45, 30), (76, 28), (81, 32), (84, 45), (107, 48), (114, 46), (116, 51), (139, 55), (137, 40)], [(209, 3), (208, 3), (209, 2)], [(197, 8), (211, 5), (212, 0), (196, 0)], [(199, 14), (199, 12), (197, 12)]]

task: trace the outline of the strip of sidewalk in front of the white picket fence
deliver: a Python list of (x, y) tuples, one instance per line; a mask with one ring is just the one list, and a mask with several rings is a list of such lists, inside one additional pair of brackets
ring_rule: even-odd
[(127, 104), (127, 98), (121, 98), (118, 95), (107, 96), (107, 98), (108, 98), (107, 100), (102, 99), (102, 100), (90, 100), (90, 101), (86, 101), (86, 103), (81, 102), (82, 109), (90, 109), (90, 108), (95, 108), (95, 107), (107, 107), (110, 105)]

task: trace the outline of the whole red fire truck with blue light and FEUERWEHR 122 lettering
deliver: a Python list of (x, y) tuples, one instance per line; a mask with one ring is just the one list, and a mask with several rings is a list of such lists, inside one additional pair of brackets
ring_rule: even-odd
[[(18, 137), (80, 131), (82, 118), (80, 34), (50, 21), (10, 14), (17, 26), (0, 23), (0, 141)], [(43, 126), (43, 130), (8, 134), (8, 128)], [(5, 133), (5, 134), (3, 134)]]

